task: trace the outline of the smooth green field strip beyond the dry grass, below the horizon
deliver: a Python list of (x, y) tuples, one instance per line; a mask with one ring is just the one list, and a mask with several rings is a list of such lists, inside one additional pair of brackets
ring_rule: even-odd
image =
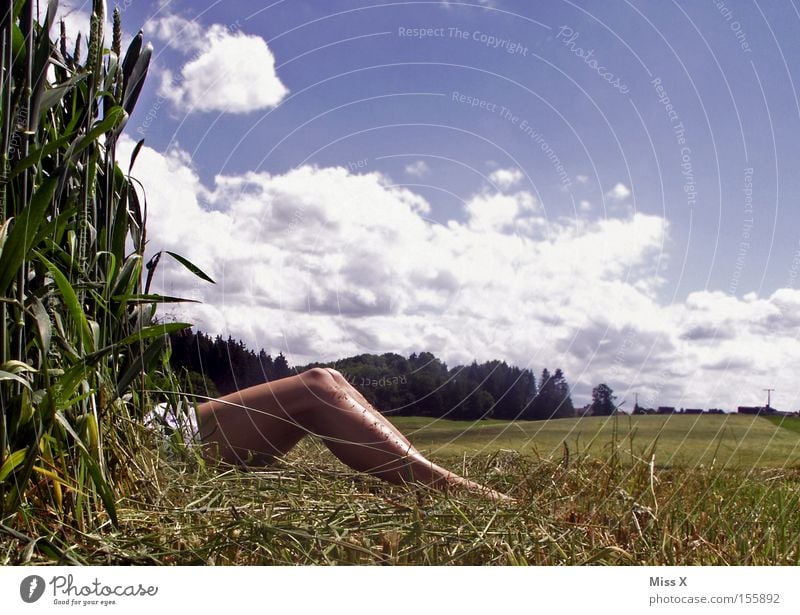
[(798, 434), (757, 416), (619, 416), (513, 423), (396, 417), (392, 421), (417, 448), (443, 458), (512, 450), (552, 459), (563, 455), (566, 444), (572, 455), (603, 459), (615, 441), (622, 461), (628, 463), (642, 457), (649, 461), (654, 453), (660, 467), (800, 467)]

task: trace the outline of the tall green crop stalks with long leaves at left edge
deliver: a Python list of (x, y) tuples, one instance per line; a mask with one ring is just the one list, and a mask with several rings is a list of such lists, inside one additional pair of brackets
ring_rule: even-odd
[(157, 261), (144, 262), (130, 176), (142, 143), (115, 158), (151, 47), (140, 32), (123, 58), (115, 11), (107, 49), (95, 0), (81, 58), (63, 23), (51, 39), (57, 1), (38, 6), (4, 2), (0, 26), (0, 530), (36, 515), (117, 523), (116, 494), (136, 480), (129, 427), (169, 376), (166, 336), (187, 326), (160, 323), (175, 299), (149, 292)]

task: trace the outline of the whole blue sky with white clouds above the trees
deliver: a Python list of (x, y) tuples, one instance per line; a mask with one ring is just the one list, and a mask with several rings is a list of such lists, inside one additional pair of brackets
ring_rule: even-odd
[[(63, 9), (74, 28), (88, 3)], [(159, 290), (292, 363), (561, 367), (800, 407), (791, 0), (120, 2)]]

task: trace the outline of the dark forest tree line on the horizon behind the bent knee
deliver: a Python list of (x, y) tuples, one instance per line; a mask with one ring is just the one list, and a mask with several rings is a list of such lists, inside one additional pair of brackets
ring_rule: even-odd
[(333, 363), (290, 368), (283, 354), (273, 358), (241, 341), (184, 331), (171, 338), (172, 366), (185, 369), (195, 393), (225, 395), (311, 367), (333, 367), (381, 412), (478, 420), (543, 420), (575, 416), (570, 387), (560, 369), (529, 369), (504, 361), (448, 366), (430, 352), (358, 355)]

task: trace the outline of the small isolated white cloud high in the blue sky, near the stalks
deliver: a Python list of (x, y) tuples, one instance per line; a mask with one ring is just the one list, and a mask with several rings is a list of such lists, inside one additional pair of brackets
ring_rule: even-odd
[(150, 24), (152, 36), (191, 54), (178, 73), (165, 69), (159, 93), (182, 112), (249, 113), (277, 106), (289, 93), (260, 36), (219, 24), (206, 28), (176, 15)]

